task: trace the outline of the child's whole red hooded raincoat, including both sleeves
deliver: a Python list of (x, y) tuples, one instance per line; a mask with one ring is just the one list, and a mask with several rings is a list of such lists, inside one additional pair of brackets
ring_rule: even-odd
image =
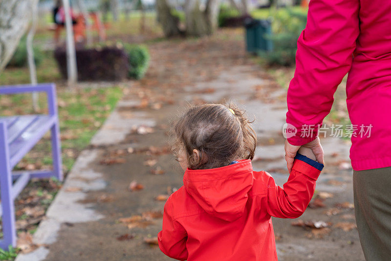
[(271, 217), (300, 217), (311, 200), (320, 171), (295, 160), (283, 188), (251, 161), (190, 170), (184, 186), (164, 206), (159, 247), (188, 261), (277, 260)]

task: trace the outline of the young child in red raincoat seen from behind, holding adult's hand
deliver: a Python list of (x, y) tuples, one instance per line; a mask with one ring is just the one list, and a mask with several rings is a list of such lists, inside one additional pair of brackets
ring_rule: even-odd
[(164, 206), (161, 251), (188, 261), (277, 260), (271, 217), (304, 213), (323, 164), (300, 150), (283, 188), (253, 171), (256, 133), (234, 104), (193, 107), (173, 132), (185, 174)]

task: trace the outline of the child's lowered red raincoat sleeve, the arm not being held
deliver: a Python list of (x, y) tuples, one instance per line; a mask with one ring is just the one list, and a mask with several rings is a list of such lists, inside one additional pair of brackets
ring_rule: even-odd
[(174, 220), (172, 203), (169, 198), (164, 205), (163, 228), (157, 235), (160, 250), (170, 258), (187, 260), (189, 255), (186, 249), (187, 233), (185, 229)]

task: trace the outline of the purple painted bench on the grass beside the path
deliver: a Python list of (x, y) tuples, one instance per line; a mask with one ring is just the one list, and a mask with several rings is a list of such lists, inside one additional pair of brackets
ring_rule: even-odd
[[(46, 92), (49, 114), (0, 117), (0, 198), (3, 239), (0, 247), (16, 246), (14, 200), (30, 178), (63, 179), (60, 131), (54, 84), (2, 86), (0, 95)], [(47, 132), (51, 132), (53, 171), (13, 172), (13, 168)]]

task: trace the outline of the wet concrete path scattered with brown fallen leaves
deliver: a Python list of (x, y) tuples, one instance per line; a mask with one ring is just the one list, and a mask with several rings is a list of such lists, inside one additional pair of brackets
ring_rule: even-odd
[[(282, 137), (286, 90), (245, 57), (242, 41), (221, 43), (218, 37), (150, 46), (152, 68), (146, 79), (125, 89), (35, 233), (40, 247), (17, 261), (172, 260), (144, 240), (161, 229), (159, 215), (150, 217), (164, 206), (156, 196), (182, 185), (183, 173), (167, 150), (167, 125), (188, 103), (233, 99), (243, 105), (256, 118), (254, 169), (269, 171), (279, 185), (287, 180)], [(299, 219), (330, 222), (329, 227), (303, 228), (291, 225), (297, 220), (274, 218), (281, 261), (364, 260), (357, 230), (343, 230), (354, 223), (352, 171), (344, 166), (349, 145), (330, 137), (322, 144), (326, 167), (316, 192), (326, 198), (325, 206), (308, 208)], [(130, 191), (132, 181), (144, 188)], [(121, 222), (137, 215), (144, 215), (142, 222)]]

